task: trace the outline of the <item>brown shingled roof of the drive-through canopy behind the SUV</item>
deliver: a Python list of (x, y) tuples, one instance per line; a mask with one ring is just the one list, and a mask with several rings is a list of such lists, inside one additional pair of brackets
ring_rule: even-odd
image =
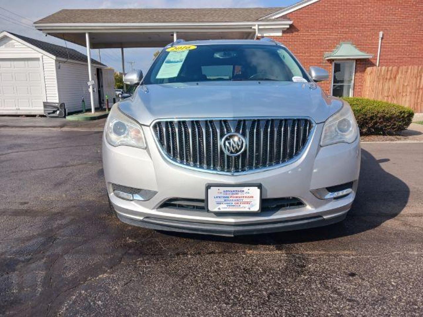
[(63, 9), (36, 21), (35, 24), (255, 22), (281, 9), (283, 8)]

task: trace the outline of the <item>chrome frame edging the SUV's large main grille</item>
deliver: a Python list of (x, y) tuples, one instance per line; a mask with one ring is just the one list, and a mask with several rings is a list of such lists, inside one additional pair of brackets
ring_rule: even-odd
[[(295, 156), (294, 158), (292, 158), (289, 161), (280, 163), (280, 164), (275, 164), (272, 166), (268, 166), (268, 167), (260, 167), (257, 169), (251, 169), (248, 171), (243, 171), (243, 172), (221, 172), (221, 171), (216, 171), (216, 170), (210, 170), (210, 169), (205, 169), (205, 168), (201, 168), (201, 167), (193, 167), (190, 165), (186, 165), (186, 164), (181, 164), (177, 161), (175, 161), (173, 158), (169, 157), (167, 153), (165, 153), (165, 151), (162, 149), (162, 145), (160, 144), (160, 140), (157, 139), (155, 131), (154, 131), (154, 125), (157, 122), (169, 122), (169, 121), (191, 121), (191, 120), (255, 120), (255, 119), (259, 119), (259, 120), (270, 120), (270, 119), (277, 119), (277, 120), (282, 120), (282, 119), (308, 119), (311, 121), (311, 123), (313, 123), (313, 128), (310, 130), (310, 134), (308, 137), (307, 142), (305, 142), (304, 147), (302, 148), (302, 150), (297, 154), (297, 156)], [(215, 175), (231, 175), (231, 176), (241, 176), (241, 175), (248, 175), (248, 174), (253, 174), (253, 173), (259, 173), (259, 172), (264, 172), (264, 171), (268, 171), (268, 170), (272, 170), (272, 169), (277, 169), (280, 167), (284, 167), (287, 166), (289, 164), (293, 164), (296, 161), (298, 161), (300, 158), (302, 158), (306, 152), (306, 150), (310, 147), (310, 143), (311, 140), (314, 137), (314, 132), (316, 131), (316, 121), (313, 120), (310, 117), (307, 116), (288, 116), (288, 117), (207, 117), (207, 118), (163, 118), (163, 119), (156, 119), (153, 122), (151, 122), (150, 126), (149, 126), (149, 130), (151, 133), (151, 136), (154, 139), (154, 142), (156, 143), (157, 148), (159, 149), (160, 154), (162, 155), (162, 157), (164, 157), (167, 161), (169, 161), (170, 163), (179, 166), (179, 167), (183, 167), (183, 168), (187, 168), (187, 169), (192, 169), (195, 171), (199, 171), (199, 172), (205, 172), (205, 173), (210, 173), (210, 174), (215, 174)]]

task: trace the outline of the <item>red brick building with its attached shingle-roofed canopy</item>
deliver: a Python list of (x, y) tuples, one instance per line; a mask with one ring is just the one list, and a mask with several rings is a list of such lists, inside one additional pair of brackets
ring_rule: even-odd
[[(302, 0), (286, 8), (63, 9), (38, 30), (91, 49), (272, 37), (330, 74), (334, 96), (362, 96), (366, 68), (423, 66), (423, 0)], [(380, 49), (379, 49), (380, 43)], [(90, 50), (88, 49), (87, 55)], [(419, 77), (416, 77), (419, 78)]]

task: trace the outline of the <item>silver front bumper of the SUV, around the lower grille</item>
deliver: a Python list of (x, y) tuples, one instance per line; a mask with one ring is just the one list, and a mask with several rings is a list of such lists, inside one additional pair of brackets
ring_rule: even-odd
[[(122, 221), (160, 230), (241, 235), (318, 227), (343, 220), (353, 192), (341, 199), (319, 199), (311, 190), (358, 180), (360, 142), (320, 148), (322, 124), (316, 126), (308, 148), (292, 164), (246, 175), (218, 175), (176, 166), (162, 157), (147, 127), (147, 150), (113, 147), (103, 137), (107, 191)], [(148, 201), (126, 201), (113, 194), (111, 184), (157, 191)], [(282, 208), (258, 214), (214, 214), (204, 210), (161, 208), (170, 198), (204, 199), (207, 183), (261, 183), (262, 198), (297, 197), (301, 208)]]

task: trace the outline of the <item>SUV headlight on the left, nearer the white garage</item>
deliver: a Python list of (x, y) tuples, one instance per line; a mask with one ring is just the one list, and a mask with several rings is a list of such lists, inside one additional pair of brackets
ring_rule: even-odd
[(112, 108), (106, 122), (106, 139), (110, 145), (128, 145), (146, 148), (146, 140), (141, 126), (124, 115), (117, 106)]

